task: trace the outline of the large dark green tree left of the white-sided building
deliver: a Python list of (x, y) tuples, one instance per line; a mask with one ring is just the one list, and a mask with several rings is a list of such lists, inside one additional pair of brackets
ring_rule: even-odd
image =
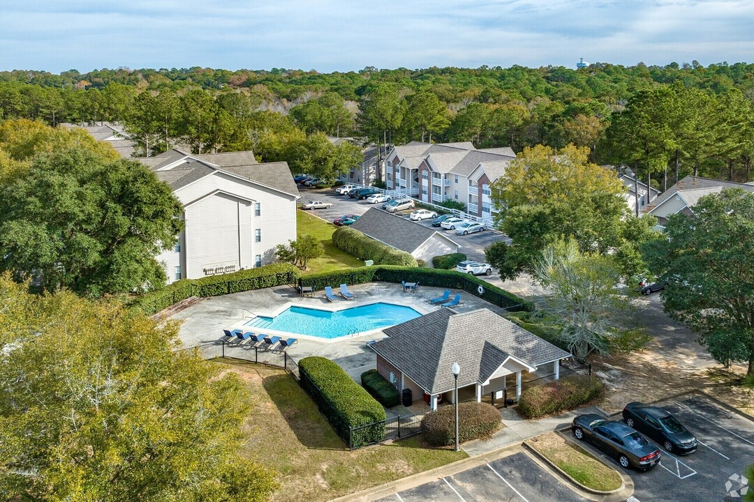
[(82, 148), (35, 157), (0, 184), (0, 269), (99, 296), (160, 288), (182, 205), (146, 166)]

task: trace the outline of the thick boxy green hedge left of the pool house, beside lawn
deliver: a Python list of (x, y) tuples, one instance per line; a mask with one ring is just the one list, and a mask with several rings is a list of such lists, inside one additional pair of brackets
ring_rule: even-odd
[(385, 440), (385, 409), (336, 363), (304, 357), (299, 373), (302, 388), (351, 449)]

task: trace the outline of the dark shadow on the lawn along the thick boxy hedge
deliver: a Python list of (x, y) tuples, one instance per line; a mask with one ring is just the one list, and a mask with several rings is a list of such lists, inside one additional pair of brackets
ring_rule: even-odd
[(262, 380), (262, 386), (303, 446), (311, 449), (347, 449), (343, 440), (335, 433), (333, 427), (330, 427), (317, 409), (317, 405), (293, 376), (267, 376)]

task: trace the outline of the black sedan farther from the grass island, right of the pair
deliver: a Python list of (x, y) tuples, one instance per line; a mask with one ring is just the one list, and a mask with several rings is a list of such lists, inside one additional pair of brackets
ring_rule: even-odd
[(668, 452), (691, 453), (697, 449), (697, 438), (676, 417), (659, 406), (628, 403), (623, 419), (629, 427), (642, 431), (661, 444)]

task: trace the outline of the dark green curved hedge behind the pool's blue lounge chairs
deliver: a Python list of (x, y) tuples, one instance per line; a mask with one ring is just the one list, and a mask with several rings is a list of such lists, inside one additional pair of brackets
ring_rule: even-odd
[[(420, 286), (434, 288), (460, 289), (481, 297), (495, 306), (516, 310), (534, 310), (534, 304), (517, 297), (513, 293), (498, 288), (494, 284), (478, 278), (476, 275), (464, 274), (455, 270), (427, 269), (415, 266), (362, 266), (355, 269), (344, 269), (336, 272), (322, 272), (319, 274), (304, 275), (299, 279), (299, 285), (314, 286), (321, 290), (325, 286), (338, 284), (363, 284), (365, 282), (394, 282), (400, 281), (418, 282)], [(482, 286), (483, 293), (479, 294)]]

